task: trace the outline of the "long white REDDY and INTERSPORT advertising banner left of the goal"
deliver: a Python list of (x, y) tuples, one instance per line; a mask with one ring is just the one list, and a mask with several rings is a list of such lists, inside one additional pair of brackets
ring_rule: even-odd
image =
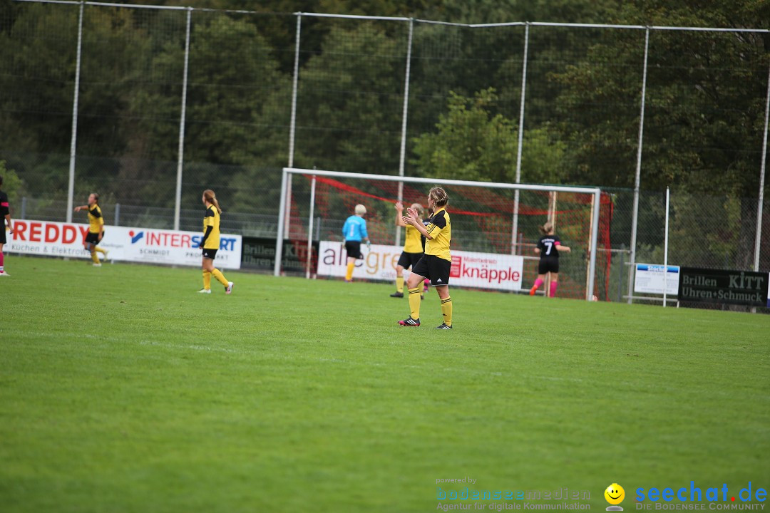
[[(12, 235), (6, 234), (5, 251), (8, 253), (91, 258), (83, 249), (89, 225), (15, 219), (13, 228)], [(201, 232), (105, 225), (99, 246), (109, 251), (109, 259), (114, 261), (198, 266), (201, 261), (198, 245), (202, 238)], [(216, 266), (239, 269), (242, 248), (240, 235), (221, 235)]]

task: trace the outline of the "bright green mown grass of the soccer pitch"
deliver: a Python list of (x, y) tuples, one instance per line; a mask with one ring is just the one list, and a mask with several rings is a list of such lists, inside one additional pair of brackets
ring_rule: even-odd
[(391, 285), (6, 268), (3, 513), (437, 511), (464, 476), (594, 511), (613, 482), (626, 511), (639, 487), (770, 488), (766, 315), (454, 290), (438, 331), (434, 291), (400, 328)]

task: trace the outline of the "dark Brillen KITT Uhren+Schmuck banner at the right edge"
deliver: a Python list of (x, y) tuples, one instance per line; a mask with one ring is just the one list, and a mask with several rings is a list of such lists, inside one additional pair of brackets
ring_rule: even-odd
[(768, 306), (768, 281), (766, 272), (683, 267), (677, 296), (679, 301)]

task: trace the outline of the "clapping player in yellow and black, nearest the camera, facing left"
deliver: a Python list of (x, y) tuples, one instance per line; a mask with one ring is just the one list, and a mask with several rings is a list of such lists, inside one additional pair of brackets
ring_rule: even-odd
[(403, 222), (412, 225), (425, 237), (425, 255), (412, 268), (412, 274), (407, 280), (409, 288), (410, 315), (403, 321), (402, 326), (420, 325), (420, 284), (425, 278), (430, 278), (441, 300), (441, 314), (444, 322), (437, 329), (452, 329), (452, 298), (449, 297), (449, 274), (452, 268), (452, 257), (449, 245), (452, 240), (452, 224), (447, 214), (449, 197), (443, 188), (434, 187), (428, 193), (428, 208), (434, 210), (430, 223), (423, 225), (422, 219), (414, 208), (407, 209), (408, 216)]

